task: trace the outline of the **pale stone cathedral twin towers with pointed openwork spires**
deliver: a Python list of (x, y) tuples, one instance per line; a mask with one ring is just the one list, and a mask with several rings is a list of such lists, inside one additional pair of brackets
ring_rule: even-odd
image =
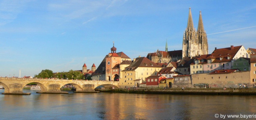
[(200, 11), (197, 32), (193, 25), (191, 8), (188, 13), (188, 23), (183, 35), (182, 58), (208, 54), (208, 42), (206, 31), (203, 27)]

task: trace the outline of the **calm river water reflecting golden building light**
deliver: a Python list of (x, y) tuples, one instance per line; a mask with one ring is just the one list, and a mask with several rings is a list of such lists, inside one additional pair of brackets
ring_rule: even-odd
[(31, 95), (0, 94), (0, 120), (211, 120), (215, 114), (218, 119), (221, 114), (256, 118), (256, 96), (23, 92)]

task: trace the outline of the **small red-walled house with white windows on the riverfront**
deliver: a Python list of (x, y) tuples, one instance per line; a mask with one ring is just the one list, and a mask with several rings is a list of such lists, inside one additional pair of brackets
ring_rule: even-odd
[(146, 78), (146, 86), (158, 87), (160, 80), (166, 79), (165, 76), (149, 76)]

